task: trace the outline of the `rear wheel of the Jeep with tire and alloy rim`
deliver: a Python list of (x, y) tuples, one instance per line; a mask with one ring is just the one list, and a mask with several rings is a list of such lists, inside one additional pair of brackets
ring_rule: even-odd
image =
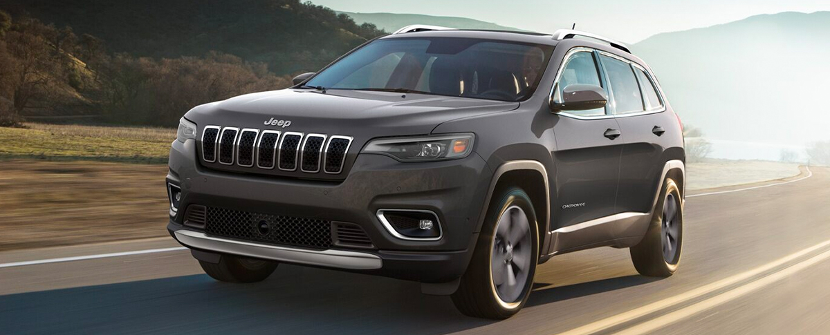
[(666, 178), (646, 235), (631, 247), (631, 260), (642, 275), (668, 277), (680, 265), (683, 201), (677, 184)]

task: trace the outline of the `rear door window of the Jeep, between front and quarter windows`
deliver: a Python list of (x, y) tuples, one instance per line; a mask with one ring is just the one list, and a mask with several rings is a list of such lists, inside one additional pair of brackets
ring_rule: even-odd
[(625, 61), (600, 55), (614, 101), (614, 114), (642, 112), (642, 95), (632, 66)]

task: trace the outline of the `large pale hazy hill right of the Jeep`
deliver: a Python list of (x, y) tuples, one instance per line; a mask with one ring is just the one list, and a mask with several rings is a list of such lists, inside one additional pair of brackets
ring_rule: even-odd
[(631, 48), (683, 121), (707, 137), (802, 146), (827, 138), (828, 41), (830, 12), (782, 12), (662, 33)]

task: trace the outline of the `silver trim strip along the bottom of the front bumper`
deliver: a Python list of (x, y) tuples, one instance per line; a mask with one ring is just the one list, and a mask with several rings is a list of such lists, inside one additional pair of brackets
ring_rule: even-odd
[(383, 260), (380, 257), (365, 252), (303, 250), (276, 245), (261, 245), (241, 240), (212, 237), (198, 231), (180, 230), (176, 231), (175, 234), (176, 239), (185, 246), (232, 255), (340, 269), (380, 269), (383, 267)]

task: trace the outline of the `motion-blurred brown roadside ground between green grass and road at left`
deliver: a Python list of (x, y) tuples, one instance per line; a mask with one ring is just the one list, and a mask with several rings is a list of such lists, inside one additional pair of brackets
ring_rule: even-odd
[(167, 235), (167, 166), (0, 161), (0, 251)]

